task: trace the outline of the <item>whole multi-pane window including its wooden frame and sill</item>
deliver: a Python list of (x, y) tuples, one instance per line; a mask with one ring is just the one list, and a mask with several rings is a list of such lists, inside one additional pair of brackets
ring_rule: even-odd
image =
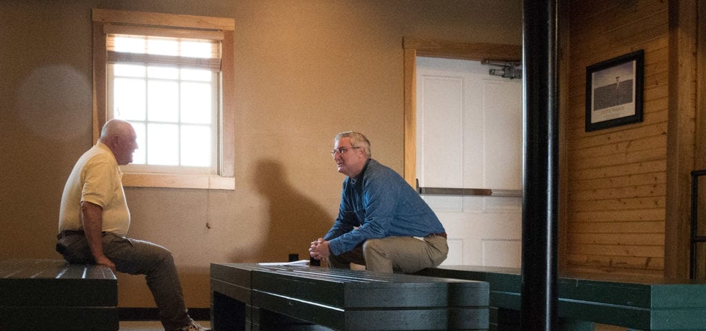
[(94, 138), (109, 119), (138, 134), (125, 186), (232, 189), (234, 22), (95, 9)]

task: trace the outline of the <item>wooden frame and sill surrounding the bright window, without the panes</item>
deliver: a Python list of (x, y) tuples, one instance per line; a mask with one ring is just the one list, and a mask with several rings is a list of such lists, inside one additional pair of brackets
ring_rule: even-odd
[(93, 138), (108, 119), (106, 27), (111, 24), (161, 28), (185, 28), (223, 34), (221, 44), (218, 155), (215, 174), (173, 174), (131, 172), (124, 169), (126, 187), (207, 188), (233, 190), (234, 183), (234, 63), (232, 18), (188, 16), (166, 13), (93, 9)]

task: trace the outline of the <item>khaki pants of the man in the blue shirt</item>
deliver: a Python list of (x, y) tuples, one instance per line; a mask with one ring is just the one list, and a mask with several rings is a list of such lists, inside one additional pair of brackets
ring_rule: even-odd
[(368, 239), (352, 251), (330, 255), (328, 266), (347, 269), (351, 263), (355, 263), (365, 265), (369, 271), (411, 273), (440, 265), (447, 254), (448, 244), (443, 236), (421, 239), (390, 236)]

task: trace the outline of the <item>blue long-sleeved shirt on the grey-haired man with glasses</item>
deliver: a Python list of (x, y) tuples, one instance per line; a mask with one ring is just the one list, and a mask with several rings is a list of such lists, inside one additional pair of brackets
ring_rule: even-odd
[(402, 176), (370, 159), (356, 178), (343, 181), (338, 217), (323, 239), (329, 241), (331, 253), (340, 255), (367, 239), (444, 231), (436, 214)]

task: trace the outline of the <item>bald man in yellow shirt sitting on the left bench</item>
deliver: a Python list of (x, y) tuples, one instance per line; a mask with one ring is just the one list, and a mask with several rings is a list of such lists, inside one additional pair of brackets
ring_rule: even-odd
[(164, 330), (207, 331), (186, 311), (172, 253), (126, 237), (130, 210), (118, 166), (133, 161), (136, 139), (131, 124), (112, 119), (103, 126), (98, 142), (78, 159), (61, 195), (56, 251), (69, 263), (145, 275)]

